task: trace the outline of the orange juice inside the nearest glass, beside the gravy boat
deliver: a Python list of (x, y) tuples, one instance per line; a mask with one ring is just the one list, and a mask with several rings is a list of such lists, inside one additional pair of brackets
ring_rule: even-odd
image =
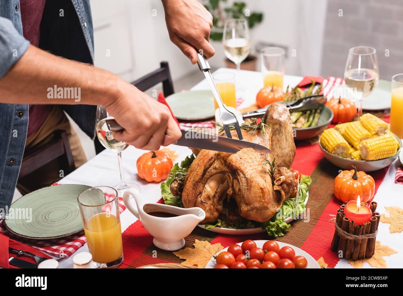
[(88, 219), (84, 232), (93, 261), (109, 263), (122, 256), (122, 230), (116, 216), (96, 214)]

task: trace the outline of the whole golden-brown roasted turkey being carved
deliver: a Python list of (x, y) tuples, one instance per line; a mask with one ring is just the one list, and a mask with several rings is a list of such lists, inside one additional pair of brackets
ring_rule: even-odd
[[(185, 208), (196, 206), (206, 212), (203, 222), (218, 218), (266, 222), (295, 191), (295, 177), (289, 171), (295, 156), (289, 111), (282, 104), (272, 104), (263, 121), (268, 125), (265, 133), (242, 129), (243, 140), (266, 146), (272, 153), (261, 155), (252, 148), (234, 154), (193, 149), (197, 156), (184, 183), (172, 182), (172, 194), (181, 194)], [(235, 130), (231, 135), (238, 138)], [(270, 162), (275, 158), (273, 175), (265, 158)]]

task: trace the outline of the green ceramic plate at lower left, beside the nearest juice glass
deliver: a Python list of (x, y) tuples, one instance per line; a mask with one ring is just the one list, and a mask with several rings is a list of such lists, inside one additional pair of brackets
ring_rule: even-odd
[(18, 219), (6, 219), (4, 224), (12, 233), (34, 239), (58, 238), (80, 232), (83, 222), (77, 197), (88, 188), (86, 185), (66, 184), (28, 193), (13, 202), (8, 211), (9, 215), (25, 212), (28, 216), (18, 215)]

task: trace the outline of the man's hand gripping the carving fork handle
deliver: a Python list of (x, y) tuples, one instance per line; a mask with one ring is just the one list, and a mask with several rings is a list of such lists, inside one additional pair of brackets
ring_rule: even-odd
[(210, 44), (213, 17), (204, 6), (197, 0), (162, 0), (162, 4), (169, 37), (192, 64), (197, 63), (200, 49), (206, 58), (214, 56)]

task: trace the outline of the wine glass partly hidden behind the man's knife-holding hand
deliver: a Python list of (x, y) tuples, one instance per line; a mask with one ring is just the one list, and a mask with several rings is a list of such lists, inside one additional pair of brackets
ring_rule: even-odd
[(140, 192), (141, 189), (139, 185), (136, 183), (125, 182), (125, 175), (123, 174), (122, 151), (125, 150), (129, 145), (125, 142), (115, 140), (112, 132), (109, 130), (108, 125), (106, 124), (107, 119), (114, 118), (108, 114), (105, 107), (98, 105), (96, 115), (96, 131), (98, 140), (106, 149), (112, 150), (118, 154), (120, 183), (114, 185), (114, 187), (119, 192), (119, 196), (121, 196), (121, 194), (129, 188), (135, 188)]

